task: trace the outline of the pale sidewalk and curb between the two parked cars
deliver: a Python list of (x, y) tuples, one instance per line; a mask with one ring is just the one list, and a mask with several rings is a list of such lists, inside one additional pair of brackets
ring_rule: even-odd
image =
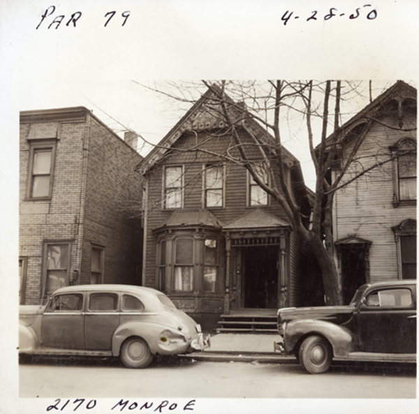
[(211, 347), (182, 355), (196, 361), (297, 364), (295, 357), (274, 352), (276, 334), (214, 334)]

